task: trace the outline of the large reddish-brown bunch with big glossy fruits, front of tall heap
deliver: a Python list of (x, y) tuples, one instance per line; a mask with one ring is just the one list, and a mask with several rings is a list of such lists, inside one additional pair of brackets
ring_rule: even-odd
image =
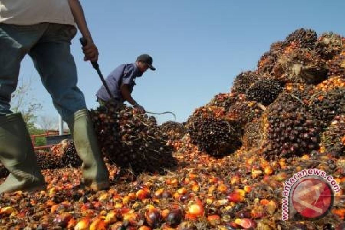
[(282, 94), (271, 104), (266, 126), (267, 159), (302, 156), (319, 147), (321, 122), (290, 94)]

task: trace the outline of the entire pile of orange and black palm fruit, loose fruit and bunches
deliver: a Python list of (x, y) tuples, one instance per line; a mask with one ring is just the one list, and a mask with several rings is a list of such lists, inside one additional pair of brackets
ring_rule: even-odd
[[(158, 126), (126, 106), (91, 110), (111, 188), (82, 188), (79, 168), (43, 170), (47, 191), (0, 195), (0, 226), (345, 229), (343, 192), (321, 219), (282, 221), (283, 186), (295, 173), (324, 170), (345, 189), (344, 55), (343, 37), (298, 29), (273, 43), (255, 71), (238, 74), (229, 92), (197, 108), (185, 125)], [(75, 166), (69, 161), (75, 162), (59, 162)]]

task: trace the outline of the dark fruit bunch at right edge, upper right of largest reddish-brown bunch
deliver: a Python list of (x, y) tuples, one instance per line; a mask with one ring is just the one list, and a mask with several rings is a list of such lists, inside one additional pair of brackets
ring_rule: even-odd
[(325, 124), (329, 123), (336, 114), (345, 112), (345, 89), (315, 94), (309, 108), (316, 118)]

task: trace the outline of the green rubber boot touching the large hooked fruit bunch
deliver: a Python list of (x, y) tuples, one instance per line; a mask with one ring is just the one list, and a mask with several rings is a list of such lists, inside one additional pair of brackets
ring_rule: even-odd
[(77, 153), (82, 160), (83, 183), (92, 190), (109, 188), (109, 172), (98, 147), (93, 123), (87, 109), (67, 119)]

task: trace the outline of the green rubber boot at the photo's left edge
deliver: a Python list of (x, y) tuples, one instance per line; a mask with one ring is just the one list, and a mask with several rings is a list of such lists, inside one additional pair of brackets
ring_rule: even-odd
[(0, 117), (0, 161), (10, 171), (10, 175), (0, 185), (0, 193), (40, 191), (46, 188), (29, 132), (20, 113)]

